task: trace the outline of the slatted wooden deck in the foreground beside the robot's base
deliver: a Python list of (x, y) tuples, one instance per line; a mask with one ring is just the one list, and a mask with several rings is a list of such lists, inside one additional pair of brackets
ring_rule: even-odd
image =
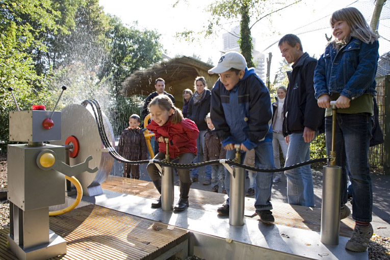
[[(88, 205), (50, 217), (50, 229), (67, 242), (67, 254), (53, 259), (154, 259), (189, 238), (189, 231)], [(17, 259), (0, 230), (0, 259)]]

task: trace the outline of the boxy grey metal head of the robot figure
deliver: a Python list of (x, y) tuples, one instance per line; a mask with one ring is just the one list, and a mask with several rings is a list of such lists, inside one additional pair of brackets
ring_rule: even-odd
[(9, 114), (10, 141), (44, 142), (61, 139), (61, 112), (56, 111), (51, 117), (54, 126), (45, 129), (42, 122), (49, 118), (51, 111), (27, 110), (11, 111)]

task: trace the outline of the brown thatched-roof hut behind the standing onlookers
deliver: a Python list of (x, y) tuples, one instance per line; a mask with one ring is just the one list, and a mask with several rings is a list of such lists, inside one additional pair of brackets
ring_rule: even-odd
[(218, 74), (207, 73), (213, 66), (192, 57), (177, 57), (163, 61), (150, 68), (135, 71), (122, 83), (124, 96), (134, 94), (149, 95), (155, 91), (154, 81), (161, 77), (165, 81), (165, 91), (175, 97), (176, 107), (183, 107), (183, 90), (194, 92), (194, 80), (204, 76), (211, 90), (218, 80)]

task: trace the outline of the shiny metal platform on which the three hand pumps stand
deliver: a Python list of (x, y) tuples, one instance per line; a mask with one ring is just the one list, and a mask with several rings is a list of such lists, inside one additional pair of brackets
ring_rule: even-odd
[[(269, 225), (257, 219), (247, 218), (243, 226), (230, 226), (228, 217), (221, 217), (217, 213), (191, 207), (180, 213), (165, 212), (150, 206), (153, 199), (105, 189), (103, 194), (83, 197), (83, 200), (187, 229), (192, 232), (190, 255), (205, 259), (249, 259), (257, 257), (260, 252), (262, 256), (270, 256), (264, 259), (275, 259), (276, 255), (278, 259), (294, 259), (292, 256), (298, 257), (296, 259), (368, 259), (368, 250), (360, 253), (346, 250), (345, 244), (349, 240), (346, 237), (340, 237), (339, 245), (328, 246), (320, 242), (320, 233), (316, 231), (277, 224)], [(218, 246), (218, 249), (215, 246)], [(265, 253), (266, 251), (269, 252)]]

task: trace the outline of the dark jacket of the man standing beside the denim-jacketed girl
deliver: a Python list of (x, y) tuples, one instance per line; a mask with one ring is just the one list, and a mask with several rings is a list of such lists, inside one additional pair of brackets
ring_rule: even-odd
[(304, 53), (288, 71), (289, 86), (283, 105), (283, 136), (303, 133), (305, 127), (323, 132), (325, 109), (314, 96), (314, 69), (317, 60)]

